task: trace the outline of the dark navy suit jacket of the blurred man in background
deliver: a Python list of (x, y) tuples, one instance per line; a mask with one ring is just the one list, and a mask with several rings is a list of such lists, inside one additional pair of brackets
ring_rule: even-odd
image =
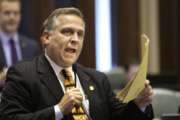
[[(19, 43), (20, 43), (23, 60), (32, 59), (33, 57), (39, 54), (40, 51), (39, 46), (34, 40), (29, 39), (26, 36), (19, 35)], [(7, 63), (3, 52), (2, 43), (0, 41), (0, 67), (2, 68), (2, 66), (6, 67)]]

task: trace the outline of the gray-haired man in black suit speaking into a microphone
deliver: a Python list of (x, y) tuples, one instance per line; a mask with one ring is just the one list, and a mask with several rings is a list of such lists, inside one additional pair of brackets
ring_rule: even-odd
[[(84, 34), (85, 22), (78, 9), (60, 8), (52, 12), (42, 27), (45, 53), (8, 71), (0, 120), (77, 120), (76, 116), (83, 116), (81, 120), (153, 118), (150, 106), (153, 91), (148, 81), (135, 100), (123, 104), (103, 73), (75, 63)], [(73, 79), (69, 89), (65, 84), (67, 76)], [(73, 112), (74, 108), (82, 110)], [(74, 114), (77, 112), (81, 114)]]

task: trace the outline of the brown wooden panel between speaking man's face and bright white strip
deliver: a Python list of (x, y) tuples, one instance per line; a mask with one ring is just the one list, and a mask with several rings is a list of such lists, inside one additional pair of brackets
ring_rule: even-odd
[(76, 7), (83, 12), (86, 22), (84, 48), (78, 62), (82, 65), (95, 68), (94, 0), (77, 0)]

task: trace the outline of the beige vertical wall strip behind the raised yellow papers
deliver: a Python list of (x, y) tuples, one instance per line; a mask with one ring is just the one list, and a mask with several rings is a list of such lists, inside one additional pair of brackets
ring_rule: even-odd
[(158, 0), (140, 0), (140, 32), (150, 38), (148, 71), (157, 74), (159, 65)]

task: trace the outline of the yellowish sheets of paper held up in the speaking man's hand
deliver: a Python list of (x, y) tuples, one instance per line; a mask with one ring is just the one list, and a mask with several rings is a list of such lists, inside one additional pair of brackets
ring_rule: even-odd
[(148, 52), (149, 51), (149, 38), (145, 35), (141, 35), (141, 64), (138, 72), (132, 80), (130, 80), (124, 89), (122, 89), (117, 97), (122, 100), (122, 102), (127, 103), (135, 99), (139, 93), (145, 87), (145, 80), (147, 74), (148, 66)]

